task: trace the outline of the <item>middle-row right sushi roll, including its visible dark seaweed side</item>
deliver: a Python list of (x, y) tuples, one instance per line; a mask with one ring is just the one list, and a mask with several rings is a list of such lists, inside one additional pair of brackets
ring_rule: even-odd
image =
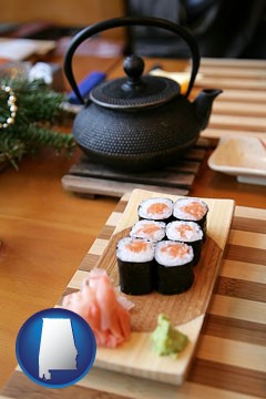
[(203, 245), (202, 227), (195, 222), (175, 221), (166, 226), (166, 237), (180, 243), (188, 244), (194, 250), (193, 264), (196, 265), (201, 257)]

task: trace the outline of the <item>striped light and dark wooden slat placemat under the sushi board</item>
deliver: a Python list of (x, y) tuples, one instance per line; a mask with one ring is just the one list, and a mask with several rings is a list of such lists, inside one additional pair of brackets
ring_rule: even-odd
[[(119, 202), (79, 270), (95, 265), (127, 201), (129, 196), (123, 196)], [(93, 367), (73, 387), (47, 389), (30, 381), (17, 368), (1, 398), (265, 398), (265, 267), (266, 209), (236, 206), (217, 285), (192, 368), (182, 387)]]

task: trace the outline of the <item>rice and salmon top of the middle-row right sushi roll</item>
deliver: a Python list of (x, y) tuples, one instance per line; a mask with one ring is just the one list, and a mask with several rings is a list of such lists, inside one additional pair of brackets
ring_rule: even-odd
[(193, 243), (203, 239), (203, 231), (195, 222), (175, 221), (167, 224), (166, 237), (173, 241)]

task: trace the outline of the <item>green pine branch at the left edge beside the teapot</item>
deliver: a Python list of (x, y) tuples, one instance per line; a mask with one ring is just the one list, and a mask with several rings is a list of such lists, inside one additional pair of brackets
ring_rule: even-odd
[[(0, 84), (9, 85), (16, 94), (18, 106), (13, 124), (0, 129), (0, 162), (9, 161), (16, 168), (22, 156), (51, 147), (71, 154), (75, 147), (72, 134), (61, 133), (53, 126), (62, 120), (65, 95), (51, 90), (42, 80), (4, 79)], [(8, 94), (0, 91), (0, 122), (10, 114)]]

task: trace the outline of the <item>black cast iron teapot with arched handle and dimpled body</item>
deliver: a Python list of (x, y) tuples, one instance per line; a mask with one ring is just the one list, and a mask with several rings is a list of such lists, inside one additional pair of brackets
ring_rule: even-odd
[[(137, 55), (124, 61), (126, 78), (105, 81), (90, 92), (85, 102), (76, 85), (72, 58), (76, 48), (103, 30), (126, 25), (153, 25), (178, 34), (192, 54), (186, 94), (175, 81), (143, 75)], [(203, 90), (193, 101), (188, 94), (200, 66), (196, 41), (174, 22), (150, 17), (122, 17), (92, 24), (79, 32), (64, 59), (64, 73), (84, 104), (73, 124), (73, 136), (89, 160), (115, 168), (149, 171), (180, 160), (207, 126), (213, 100), (221, 90)]]

